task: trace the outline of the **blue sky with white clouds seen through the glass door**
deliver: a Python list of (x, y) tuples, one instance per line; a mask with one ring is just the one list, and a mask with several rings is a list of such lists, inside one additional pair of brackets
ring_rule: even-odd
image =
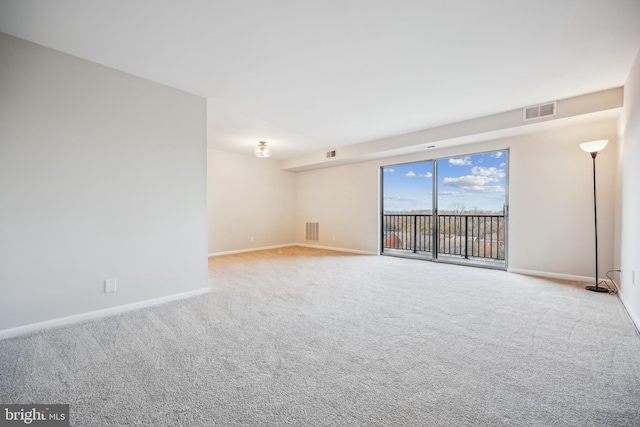
[[(505, 203), (507, 156), (504, 150), (450, 157), (438, 162), (438, 208), (502, 210)], [(384, 211), (432, 209), (433, 163), (383, 168)]]

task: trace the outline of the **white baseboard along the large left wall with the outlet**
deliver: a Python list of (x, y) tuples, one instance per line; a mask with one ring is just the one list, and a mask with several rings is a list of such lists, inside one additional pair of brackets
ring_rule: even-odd
[(181, 299), (191, 298), (198, 295), (204, 295), (208, 293), (210, 289), (200, 288), (194, 291), (182, 292), (179, 294), (168, 295), (166, 297), (154, 298), (145, 301), (134, 302), (131, 304), (119, 305), (117, 307), (105, 308), (103, 310), (90, 311), (87, 313), (74, 314), (73, 316), (61, 317), (58, 319), (45, 320), (44, 322), (31, 323), (29, 325), (17, 326), (15, 328), (4, 329), (0, 331), (0, 340), (6, 338), (13, 338), (20, 335), (26, 335), (33, 332), (42, 331), (45, 329), (55, 328), (57, 326), (70, 325), (72, 323), (84, 322), (86, 320), (100, 319), (108, 316), (115, 316), (117, 314), (126, 313), (132, 310), (138, 310), (140, 308), (153, 307), (160, 304), (165, 304), (171, 301), (177, 301)]

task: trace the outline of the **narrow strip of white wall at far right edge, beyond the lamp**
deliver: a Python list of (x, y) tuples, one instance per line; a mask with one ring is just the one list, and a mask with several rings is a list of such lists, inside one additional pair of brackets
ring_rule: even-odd
[(640, 52), (624, 87), (620, 120), (622, 203), (620, 298), (640, 328)]

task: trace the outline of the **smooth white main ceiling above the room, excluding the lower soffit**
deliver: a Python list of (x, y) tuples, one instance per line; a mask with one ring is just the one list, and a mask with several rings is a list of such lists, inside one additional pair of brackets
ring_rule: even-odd
[(208, 98), (209, 146), (337, 148), (624, 84), (640, 0), (0, 0), (0, 31)]

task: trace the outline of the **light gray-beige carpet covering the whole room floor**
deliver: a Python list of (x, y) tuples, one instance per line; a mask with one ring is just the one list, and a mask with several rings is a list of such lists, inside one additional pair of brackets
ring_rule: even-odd
[(616, 296), (503, 271), (284, 248), (211, 293), (0, 341), (0, 402), (75, 426), (639, 426)]

